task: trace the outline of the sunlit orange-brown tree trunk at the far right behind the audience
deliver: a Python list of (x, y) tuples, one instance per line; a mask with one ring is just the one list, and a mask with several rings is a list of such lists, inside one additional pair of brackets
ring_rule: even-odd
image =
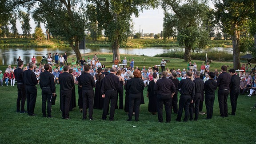
[(240, 69), (240, 31), (237, 30), (237, 25), (234, 25), (234, 32), (232, 35), (232, 47), (233, 47), (233, 68)]

